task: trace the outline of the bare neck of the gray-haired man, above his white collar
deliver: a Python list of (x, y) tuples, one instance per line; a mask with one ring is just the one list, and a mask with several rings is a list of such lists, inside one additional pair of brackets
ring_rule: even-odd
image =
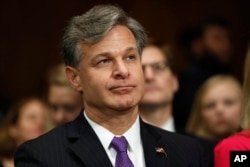
[(86, 115), (95, 123), (103, 126), (115, 135), (124, 134), (136, 121), (138, 106), (123, 111), (112, 109), (98, 110), (85, 106)]

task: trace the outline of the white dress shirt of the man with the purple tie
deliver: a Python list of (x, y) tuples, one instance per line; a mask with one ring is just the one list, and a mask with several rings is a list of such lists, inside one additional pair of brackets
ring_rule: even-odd
[[(86, 115), (85, 112), (84, 112), (84, 116), (87, 119), (90, 126), (95, 131), (95, 133), (97, 134), (112, 165), (115, 166), (116, 151), (114, 148), (110, 146), (110, 143), (112, 139), (114, 138), (114, 136), (117, 136), (117, 135), (114, 135), (106, 128), (92, 121)], [(131, 128), (128, 129), (128, 131), (125, 132), (122, 136), (124, 136), (128, 142), (128, 156), (130, 160), (132, 161), (132, 163), (134, 164), (134, 167), (145, 167), (144, 152), (143, 152), (143, 146), (142, 146), (141, 135), (140, 135), (139, 116), (137, 116), (137, 119), (134, 122), (134, 124), (131, 126)]]

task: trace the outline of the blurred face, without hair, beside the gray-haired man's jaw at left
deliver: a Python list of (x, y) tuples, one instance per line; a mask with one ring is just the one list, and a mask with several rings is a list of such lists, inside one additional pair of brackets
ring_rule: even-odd
[(48, 101), (52, 107), (52, 119), (56, 125), (73, 121), (83, 109), (81, 94), (70, 86), (51, 85)]

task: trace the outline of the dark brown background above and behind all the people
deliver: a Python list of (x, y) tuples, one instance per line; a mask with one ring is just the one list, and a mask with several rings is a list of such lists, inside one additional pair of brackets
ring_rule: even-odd
[(68, 20), (96, 4), (117, 4), (153, 36), (172, 46), (177, 72), (188, 65), (178, 38), (185, 28), (219, 16), (230, 24), (234, 75), (242, 81), (250, 30), (247, 0), (1, 0), (0, 101), (8, 108), (31, 95), (45, 96), (48, 69), (61, 61), (60, 42)]

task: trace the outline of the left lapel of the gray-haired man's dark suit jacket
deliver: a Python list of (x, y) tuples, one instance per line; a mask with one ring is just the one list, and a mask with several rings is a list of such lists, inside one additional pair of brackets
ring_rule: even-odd
[(75, 124), (68, 127), (70, 150), (87, 167), (112, 167), (112, 164), (97, 135), (81, 114)]

